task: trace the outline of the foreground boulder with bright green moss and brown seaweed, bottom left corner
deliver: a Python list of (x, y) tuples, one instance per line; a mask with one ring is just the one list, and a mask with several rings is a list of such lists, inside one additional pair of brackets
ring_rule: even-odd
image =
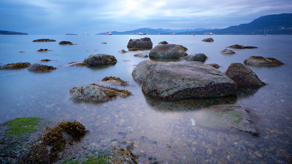
[(0, 125), (0, 163), (54, 163), (69, 156), (85, 132), (76, 121), (16, 118)]

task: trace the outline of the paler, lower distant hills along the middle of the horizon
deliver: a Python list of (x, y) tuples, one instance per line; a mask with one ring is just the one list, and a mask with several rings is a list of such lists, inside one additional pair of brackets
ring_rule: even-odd
[[(205, 28), (197, 28), (197, 29), (178, 29), (178, 30), (172, 30), (172, 29), (149, 29), (149, 28), (141, 28), (141, 29), (135, 29), (131, 31), (125, 31), (125, 32), (117, 32), (117, 31), (112, 31), (113, 35), (123, 35), (123, 34), (136, 34), (136, 33), (148, 33), (149, 35), (151, 34), (161, 34), (161, 35), (168, 35), (169, 33), (177, 33), (177, 32), (185, 32), (185, 31), (201, 31), (201, 30), (208, 30)], [(211, 28), (209, 29), (211, 30)], [(104, 33), (109, 33), (109, 32), (104, 32)], [(103, 33), (95, 34), (95, 35), (103, 35)]]

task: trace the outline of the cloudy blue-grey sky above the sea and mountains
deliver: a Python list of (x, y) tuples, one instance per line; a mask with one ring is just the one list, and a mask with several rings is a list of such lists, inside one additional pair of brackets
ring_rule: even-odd
[(53, 35), (221, 29), (281, 13), (292, 13), (291, 0), (0, 0), (0, 30)]

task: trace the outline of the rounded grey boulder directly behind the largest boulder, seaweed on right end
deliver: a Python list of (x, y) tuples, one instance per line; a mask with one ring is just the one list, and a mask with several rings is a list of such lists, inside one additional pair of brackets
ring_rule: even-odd
[(186, 50), (187, 48), (177, 44), (160, 44), (150, 51), (149, 57), (180, 58), (187, 56)]

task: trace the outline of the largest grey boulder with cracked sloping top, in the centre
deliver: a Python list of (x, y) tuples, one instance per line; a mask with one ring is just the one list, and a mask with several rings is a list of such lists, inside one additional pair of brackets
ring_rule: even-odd
[[(151, 63), (151, 64), (150, 64)], [(142, 66), (141, 66), (142, 65)], [(237, 85), (225, 74), (201, 62), (141, 62), (134, 68), (142, 90), (164, 100), (233, 95)]]

